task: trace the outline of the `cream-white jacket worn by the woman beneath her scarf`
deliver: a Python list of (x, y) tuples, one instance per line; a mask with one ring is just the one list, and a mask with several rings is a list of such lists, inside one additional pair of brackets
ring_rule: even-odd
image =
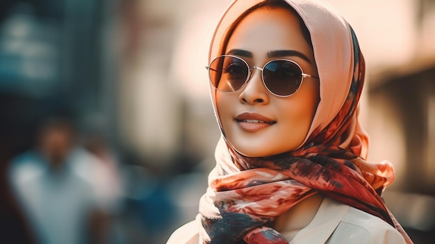
[[(167, 244), (199, 243), (197, 220), (170, 236)], [(281, 233), (286, 237), (286, 233)], [(289, 241), (290, 244), (402, 244), (402, 235), (384, 220), (325, 197), (313, 220)]]

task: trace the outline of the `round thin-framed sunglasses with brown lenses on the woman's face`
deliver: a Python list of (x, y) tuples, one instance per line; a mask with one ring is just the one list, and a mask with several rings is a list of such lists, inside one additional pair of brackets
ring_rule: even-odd
[(292, 60), (271, 60), (261, 67), (249, 67), (242, 58), (232, 55), (222, 55), (211, 61), (206, 67), (213, 86), (221, 92), (236, 92), (249, 81), (252, 70), (261, 70), (264, 86), (278, 97), (293, 95), (301, 87), (302, 80), (312, 77), (305, 74), (297, 63)]

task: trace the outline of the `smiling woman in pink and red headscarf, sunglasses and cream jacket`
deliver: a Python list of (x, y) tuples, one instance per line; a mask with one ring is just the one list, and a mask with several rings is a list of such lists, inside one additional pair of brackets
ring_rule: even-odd
[(197, 219), (167, 243), (412, 243), (380, 194), (358, 120), (364, 60), (314, 1), (239, 0), (211, 43), (222, 132)]

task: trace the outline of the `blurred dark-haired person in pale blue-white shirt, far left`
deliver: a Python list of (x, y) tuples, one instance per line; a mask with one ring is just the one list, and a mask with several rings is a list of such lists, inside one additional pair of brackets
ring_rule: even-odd
[(95, 188), (74, 170), (92, 164), (88, 154), (76, 145), (72, 120), (49, 117), (35, 149), (11, 162), (9, 179), (38, 243), (106, 243)]

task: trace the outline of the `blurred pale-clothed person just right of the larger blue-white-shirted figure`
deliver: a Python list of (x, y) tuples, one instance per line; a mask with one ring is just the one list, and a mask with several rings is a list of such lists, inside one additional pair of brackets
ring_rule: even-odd
[[(88, 153), (79, 154), (74, 170), (89, 179), (98, 200), (100, 214), (97, 220), (104, 224), (111, 241), (122, 238), (119, 227), (124, 211), (124, 186), (122, 184), (120, 160), (106, 138), (107, 124), (99, 116), (90, 116), (85, 122), (81, 145)], [(90, 163), (92, 162), (92, 163)]]

